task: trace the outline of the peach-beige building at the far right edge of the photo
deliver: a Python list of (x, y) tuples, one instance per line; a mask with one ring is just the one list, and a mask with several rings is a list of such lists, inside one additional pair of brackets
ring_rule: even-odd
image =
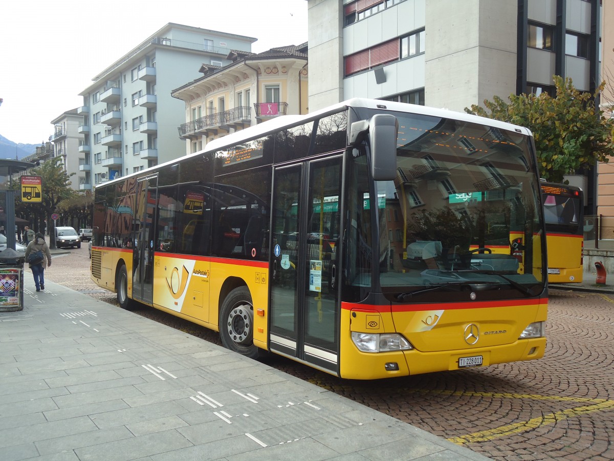
[[(614, 5), (603, 2), (601, 7), (601, 80), (605, 80), (605, 90), (601, 95), (600, 108), (607, 116), (614, 110)], [(608, 24), (610, 27), (605, 27)], [(597, 213), (603, 216), (601, 238), (614, 238), (614, 160), (599, 165), (599, 196)]]

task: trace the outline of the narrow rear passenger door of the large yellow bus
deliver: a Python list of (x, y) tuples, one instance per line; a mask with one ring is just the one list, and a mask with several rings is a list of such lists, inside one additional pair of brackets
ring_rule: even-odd
[(158, 176), (139, 179), (134, 215), (132, 297), (146, 304), (152, 304), (153, 300), (153, 234), (157, 200)]

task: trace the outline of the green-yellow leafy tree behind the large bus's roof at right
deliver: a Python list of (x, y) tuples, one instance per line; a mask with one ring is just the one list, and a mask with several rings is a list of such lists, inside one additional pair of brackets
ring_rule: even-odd
[(503, 120), (529, 128), (535, 138), (535, 151), (542, 178), (562, 183), (563, 176), (608, 162), (614, 155), (614, 120), (597, 111), (594, 98), (605, 88), (599, 85), (594, 95), (575, 89), (569, 77), (554, 76), (556, 97), (547, 93), (510, 95), (509, 103), (495, 96), (484, 100), (488, 111), (476, 104), (465, 112)]

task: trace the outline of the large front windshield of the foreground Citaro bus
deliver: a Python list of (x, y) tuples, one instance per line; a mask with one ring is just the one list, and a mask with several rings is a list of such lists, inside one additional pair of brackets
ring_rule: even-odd
[(395, 116), (398, 175), (375, 192), (383, 293), (393, 302), (443, 301), (461, 290), (491, 291), (492, 299), (540, 294), (543, 218), (530, 137)]

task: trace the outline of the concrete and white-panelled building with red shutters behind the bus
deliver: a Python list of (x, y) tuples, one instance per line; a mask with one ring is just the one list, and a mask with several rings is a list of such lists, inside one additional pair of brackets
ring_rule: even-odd
[[(308, 0), (309, 108), (351, 97), (463, 111), (599, 84), (599, 0)], [(596, 172), (574, 176), (596, 210)], [(614, 201), (613, 201), (614, 204)]]

